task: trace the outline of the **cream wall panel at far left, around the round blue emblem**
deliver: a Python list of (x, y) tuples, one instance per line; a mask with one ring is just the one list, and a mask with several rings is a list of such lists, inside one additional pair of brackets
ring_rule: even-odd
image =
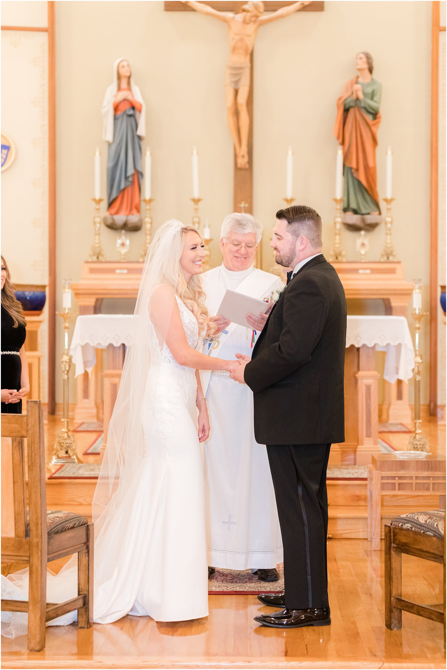
[[(2, 31), (1, 92), (2, 129), (11, 136), (17, 149), (14, 163), (1, 174), (2, 253), (7, 259), (15, 283), (47, 285), (48, 36), (46, 33)], [(43, 354), (41, 399), (46, 401), (47, 316), (39, 330), (39, 350)]]

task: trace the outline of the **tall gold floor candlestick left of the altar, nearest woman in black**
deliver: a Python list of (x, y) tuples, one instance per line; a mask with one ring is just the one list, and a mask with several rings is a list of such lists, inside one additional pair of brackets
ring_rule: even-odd
[[(64, 293), (70, 292), (70, 281), (64, 281)], [(71, 297), (71, 296), (70, 296)], [(70, 301), (71, 302), (71, 301)], [(74, 443), (72, 431), (70, 431), (68, 417), (68, 375), (70, 373), (70, 366), (72, 364), (72, 356), (68, 350), (68, 330), (70, 328), (70, 318), (72, 318), (72, 310), (70, 307), (64, 307), (62, 312), (56, 312), (58, 316), (64, 319), (64, 352), (62, 352), (62, 379), (64, 381), (64, 410), (62, 415), (62, 433), (56, 438), (54, 443), (51, 465), (58, 465), (61, 463), (81, 463), (82, 461), (76, 453), (76, 444)]]

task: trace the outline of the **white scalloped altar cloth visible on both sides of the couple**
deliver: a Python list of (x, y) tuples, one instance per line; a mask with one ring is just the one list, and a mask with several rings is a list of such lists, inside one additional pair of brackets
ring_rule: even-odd
[[(78, 316), (70, 345), (76, 377), (84, 371), (90, 375), (96, 363), (95, 348), (130, 344), (133, 318), (132, 314)], [(383, 377), (389, 383), (393, 384), (397, 379), (408, 381), (413, 376), (414, 347), (404, 316), (348, 316), (346, 346), (351, 344), (375, 346), (386, 352)]]

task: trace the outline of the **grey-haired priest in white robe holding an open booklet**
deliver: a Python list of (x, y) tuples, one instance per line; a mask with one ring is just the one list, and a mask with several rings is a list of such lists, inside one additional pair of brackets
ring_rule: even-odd
[[(279, 277), (254, 267), (261, 237), (262, 225), (250, 214), (224, 219), (224, 262), (202, 275), (207, 308), (219, 327), (217, 338), (205, 341), (208, 356), (251, 355), (266, 322), (263, 314), (248, 314), (249, 329), (217, 314), (227, 289), (264, 299), (283, 287)], [(204, 446), (209, 574), (215, 567), (252, 569), (260, 580), (276, 582), (282, 541), (266, 448), (254, 438), (253, 394), (228, 373), (201, 376), (211, 424)]]

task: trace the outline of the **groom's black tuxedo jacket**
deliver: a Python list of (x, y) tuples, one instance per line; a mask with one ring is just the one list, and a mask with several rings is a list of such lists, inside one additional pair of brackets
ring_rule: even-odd
[(245, 368), (258, 443), (344, 442), (345, 346), (345, 291), (320, 254), (282, 291)]

